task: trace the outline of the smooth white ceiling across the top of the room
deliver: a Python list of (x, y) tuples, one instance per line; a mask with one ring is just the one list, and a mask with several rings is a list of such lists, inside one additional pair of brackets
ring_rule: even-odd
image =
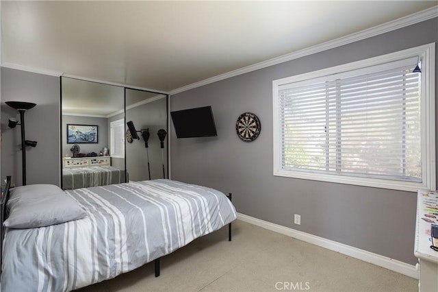
[(438, 1), (1, 1), (1, 62), (170, 92)]

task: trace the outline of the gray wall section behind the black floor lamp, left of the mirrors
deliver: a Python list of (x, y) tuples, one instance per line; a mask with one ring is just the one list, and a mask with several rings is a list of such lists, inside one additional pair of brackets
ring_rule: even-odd
[(1, 178), (12, 175), (21, 185), (21, 126), (8, 127), (8, 119), (20, 119), (5, 101), (37, 104), (25, 113), (27, 184), (60, 185), (60, 77), (1, 68)]

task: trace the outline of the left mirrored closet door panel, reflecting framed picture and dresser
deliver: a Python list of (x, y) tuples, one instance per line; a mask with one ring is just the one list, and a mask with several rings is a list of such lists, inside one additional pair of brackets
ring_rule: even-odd
[(62, 77), (62, 188), (125, 182), (124, 88)]

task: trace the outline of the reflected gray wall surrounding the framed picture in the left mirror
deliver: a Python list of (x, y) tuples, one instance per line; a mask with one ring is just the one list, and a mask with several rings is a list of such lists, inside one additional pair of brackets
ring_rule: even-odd
[(103, 147), (110, 148), (108, 130), (108, 119), (107, 118), (96, 118), (96, 117), (77, 117), (77, 116), (66, 116), (62, 115), (62, 157), (64, 156), (73, 156), (70, 148), (73, 144), (67, 144), (67, 124), (76, 124), (76, 125), (97, 125), (97, 143), (90, 144), (78, 144), (81, 148), (82, 154), (89, 154), (91, 152), (96, 152), (99, 155), (99, 152), (103, 149)]

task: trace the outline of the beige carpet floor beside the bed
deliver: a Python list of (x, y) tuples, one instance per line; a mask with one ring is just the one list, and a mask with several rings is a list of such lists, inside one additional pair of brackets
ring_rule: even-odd
[(80, 291), (418, 291), (418, 281), (243, 221)]

